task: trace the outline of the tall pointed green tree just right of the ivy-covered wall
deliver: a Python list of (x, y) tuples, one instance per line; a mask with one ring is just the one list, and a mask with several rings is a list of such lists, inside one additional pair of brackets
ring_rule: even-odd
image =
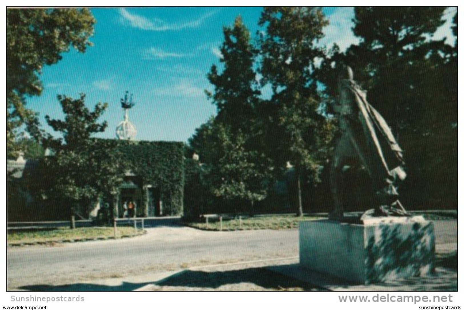
[(234, 203), (248, 201), (253, 212), (254, 203), (266, 197), (270, 170), (259, 151), (263, 131), (258, 128), (260, 92), (253, 70), (257, 51), (239, 16), (223, 31), (223, 69), (213, 65), (207, 75), (214, 86), (208, 98), (218, 115), (197, 130), (190, 144), (200, 155), (203, 180), (213, 195)]

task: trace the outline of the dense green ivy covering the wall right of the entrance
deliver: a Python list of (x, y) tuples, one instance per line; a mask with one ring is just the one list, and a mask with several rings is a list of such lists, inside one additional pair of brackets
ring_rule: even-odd
[(144, 184), (160, 189), (163, 214), (182, 215), (184, 198), (184, 144), (119, 140), (123, 158)]

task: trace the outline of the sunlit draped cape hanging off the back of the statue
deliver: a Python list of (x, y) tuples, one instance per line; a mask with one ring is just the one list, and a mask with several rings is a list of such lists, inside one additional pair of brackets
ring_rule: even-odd
[(404, 165), (403, 151), (396, 142), (392, 130), (380, 113), (367, 102), (364, 91), (356, 85), (350, 85), (350, 89), (355, 94), (356, 105), (361, 112), (362, 118), (364, 118), (363, 126), (367, 127), (366, 132), (369, 133), (385, 169), (389, 172), (400, 169), (398, 167)]

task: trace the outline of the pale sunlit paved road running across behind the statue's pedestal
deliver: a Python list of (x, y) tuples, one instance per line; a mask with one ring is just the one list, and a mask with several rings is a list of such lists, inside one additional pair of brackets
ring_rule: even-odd
[[(297, 230), (147, 230), (147, 235), (132, 239), (8, 248), (8, 289), (298, 256)], [(436, 221), (435, 232), (437, 251), (456, 248), (457, 221)]]

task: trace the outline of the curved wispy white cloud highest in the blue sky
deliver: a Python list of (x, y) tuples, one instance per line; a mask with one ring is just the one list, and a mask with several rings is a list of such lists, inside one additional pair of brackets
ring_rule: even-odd
[(162, 19), (152, 18), (148, 19), (144, 16), (130, 13), (127, 9), (119, 9), (122, 21), (128, 23), (131, 27), (148, 30), (148, 31), (170, 31), (170, 30), (182, 30), (186, 28), (195, 28), (202, 25), (206, 19), (213, 16), (216, 12), (210, 11), (201, 15), (199, 18), (176, 24), (168, 24)]

